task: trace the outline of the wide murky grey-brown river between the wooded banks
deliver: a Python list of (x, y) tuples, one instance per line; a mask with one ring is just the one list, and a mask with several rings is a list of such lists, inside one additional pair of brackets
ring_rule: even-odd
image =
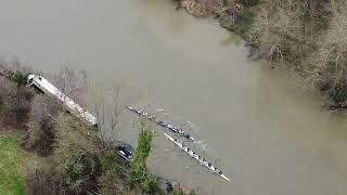
[[(94, 86), (121, 83), (124, 102), (189, 120), (194, 146), (227, 182), (156, 131), (149, 167), (200, 194), (345, 195), (347, 129), (320, 95), (282, 68), (247, 60), (247, 48), (213, 20), (164, 0), (1, 0), (0, 53), (49, 75), (68, 65)], [(130, 95), (131, 94), (131, 95)], [(137, 142), (124, 112), (118, 136)], [(202, 147), (205, 147), (203, 150)]]

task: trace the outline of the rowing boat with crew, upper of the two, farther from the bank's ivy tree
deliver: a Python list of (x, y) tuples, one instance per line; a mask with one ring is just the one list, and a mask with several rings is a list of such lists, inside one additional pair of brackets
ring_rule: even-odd
[(180, 127), (172, 126), (172, 125), (168, 123), (167, 121), (163, 121), (163, 120), (160, 120), (159, 118), (157, 118), (156, 116), (150, 115), (149, 113), (146, 113), (146, 112), (144, 112), (144, 110), (137, 109), (137, 108), (134, 108), (134, 107), (127, 106), (127, 105), (125, 105), (125, 106), (126, 106), (129, 110), (138, 114), (139, 116), (143, 116), (143, 117), (147, 118), (149, 120), (154, 121), (154, 122), (156, 122), (157, 125), (159, 125), (159, 126), (162, 126), (162, 127), (164, 127), (164, 128), (166, 128), (166, 129), (168, 129), (168, 130), (170, 130), (170, 131), (172, 131), (172, 132), (175, 132), (175, 133), (180, 134), (181, 136), (184, 136), (184, 138), (189, 139), (189, 140), (192, 140), (192, 141), (195, 140), (195, 139), (194, 139), (193, 136), (191, 136), (189, 133), (184, 132)]

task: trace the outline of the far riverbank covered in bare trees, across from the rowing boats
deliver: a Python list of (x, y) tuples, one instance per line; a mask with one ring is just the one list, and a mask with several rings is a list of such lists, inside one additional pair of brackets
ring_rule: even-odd
[[(343, 9), (346, 8), (345, 1), (176, 2), (194, 16), (214, 16), (221, 27), (240, 35), (246, 40), (247, 46), (252, 47), (252, 58), (267, 60), (272, 67), (285, 64), (304, 78), (306, 86), (319, 89), (337, 106), (346, 105), (347, 12)], [(204, 14), (200, 14), (201, 10), (204, 10)]]

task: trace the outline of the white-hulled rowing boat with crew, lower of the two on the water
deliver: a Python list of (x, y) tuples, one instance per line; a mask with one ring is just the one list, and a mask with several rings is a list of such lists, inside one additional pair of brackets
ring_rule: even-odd
[(170, 140), (171, 142), (174, 142), (178, 147), (180, 147), (182, 151), (184, 151), (190, 157), (194, 158), (195, 160), (197, 160), (202, 166), (206, 167), (207, 169), (209, 169), (213, 173), (216, 173), (218, 176), (220, 176), (221, 178), (223, 178), (227, 181), (231, 181), (229, 178), (227, 178), (221, 170), (217, 169), (214, 165), (211, 165), (209, 161), (207, 161), (206, 159), (204, 159), (201, 155), (196, 154), (195, 152), (193, 152), (192, 150), (190, 150), (189, 147), (187, 147), (185, 145), (183, 145), (181, 142), (179, 142), (178, 140), (174, 139), (172, 136), (164, 133), (164, 135)]

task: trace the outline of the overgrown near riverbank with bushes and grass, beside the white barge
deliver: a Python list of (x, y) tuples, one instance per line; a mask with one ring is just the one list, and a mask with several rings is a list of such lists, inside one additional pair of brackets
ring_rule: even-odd
[[(165, 194), (167, 188), (158, 186), (165, 180), (146, 168), (152, 131), (144, 127), (140, 130), (138, 147), (129, 164), (117, 155), (114, 138), (97, 136), (56, 101), (26, 87), (25, 70), (3, 69), (0, 77), (0, 157), (4, 159), (0, 164), (1, 194)], [(100, 134), (106, 131), (105, 123), (101, 126)], [(24, 159), (24, 156), (31, 157)]]

